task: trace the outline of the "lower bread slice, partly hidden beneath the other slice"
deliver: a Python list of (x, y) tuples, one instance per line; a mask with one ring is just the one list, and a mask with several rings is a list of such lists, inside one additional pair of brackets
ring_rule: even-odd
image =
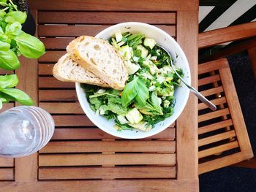
[(110, 88), (106, 82), (73, 61), (68, 53), (59, 58), (58, 63), (54, 65), (53, 76), (60, 81), (81, 82)]

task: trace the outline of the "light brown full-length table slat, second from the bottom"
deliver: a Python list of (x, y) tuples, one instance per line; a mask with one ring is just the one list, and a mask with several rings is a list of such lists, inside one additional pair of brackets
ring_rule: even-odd
[(39, 166), (93, 166), (93, 165), (156, 165), (176, 164), (176, 154), (69, 154), (39, 155)]

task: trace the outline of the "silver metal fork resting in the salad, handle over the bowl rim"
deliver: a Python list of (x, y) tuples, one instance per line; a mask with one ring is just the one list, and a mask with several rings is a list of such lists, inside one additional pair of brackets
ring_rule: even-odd
[[(159, 45), (158, 45), (159, 46)], [(161, 46), (159, 46), (161, 47)], [(161, 47), (163, 50), (165, 50), (164, 47)], [(172, 61), (172, 57), (170, 55), (170, 53), (165, 50), (165, 52), (170, 56), (170, 66), (173, 68), (173, 71), (177, 74), (178, 78), (187, 86), (187, 88), (189, 88), (189, 90), (194, 93), (195, 96), (197, 96), (197, 98), (202, 101), (204, 104), (207, 105), (207, 107), (209, 107), (211, 110), (215, 111), (217, 110), (217, 107), (208, 99), (206, 99), (205, 96), (203, 96), (201, 93), (199, 93), (195, 88), (193, 88), (191, 85), (187, 84), (187, 82), (178, 74), (178, 72), (176, 72), (175, 66), (173, 66), (173, 61)]]

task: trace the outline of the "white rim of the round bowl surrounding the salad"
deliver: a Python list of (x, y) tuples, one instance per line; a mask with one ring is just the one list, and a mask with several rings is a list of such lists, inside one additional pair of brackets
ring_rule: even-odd
[[(187, 61), (187, 56), (185, 55), (184, 51), (181, 49), (181, 46), (178, 45), (178, 42), (176, 42), (175, 39), (173, 39), (173, 37), (171, 37), (169, 34), (167, 34), (167, 32), (163, 31), (162, 29), (160, 28), (157, 28), (156, 26), (152, 26), (150, 24), (147, 24), (147, 23), (140, 23), (140, 22), (125, 22), (125, 23), (118, 23), (116, 25), (113, 25), (113, 26), (109, 26), (108, 28), (105, 28), (104, 30), (100, 31), (95, 37), (99, 38), (102, 36), (102, 34), (105, 34), (105, 33), (108, 33), (109, 31), (113, 31), (113, 33), (115, 33), (115, 28), (117, 28), (118, 26), (119, 27), (123, 27), (123, 26), (126, 26), (126, 25), (129, 25), (129, 26), (146, 26), (146, 27), (149, 27), (149, 28), (154, 28), (154, 30), (156, 30), (157, 32), (159, 33), (162, 33), (162, 34), (165, 34), (168, 38), (168, 41), (171, 41), (173, 42), (175, 45), (176, 45), (176, 50), (178, 50), (178, 53), (182, 55), (182, 58), (184, 58), (184, 62), (187, 64), (188, 66), (188, 69), (187, 71), (189, 72), (189, 77), (187, 78), (187, 83), (190, 85), (191, 84), (191, 72), (190, 72), (190, 67), (189, 67), (189, 62)], [(168, 50), (168, 49), (167, 49)], [(181, 82), (183, 86), (184, 83)], [(85, 112), (86, 114), (86, 111), (88, 110), (85, 106), (83, 106), (81, 104), (81, 100), (84, 100), (86, 99), (86, 97), (82, 98), (82, 96), (80, 95), (79, 93), (79, 90), (82, 89), (80, 87), (80, 82), (75, 82), (75, 90), (76, 90), (76, 94), (78, 96), (78, 101), (79, 101), (79, 104), (80, 106), (82, 107), (83, 109), (83, 112)], [(174, 112), (172, 116), (173, 118), (173, 121), (168, 123), (168, 126), (162, 126), (162, 128), (158, 128), (158, 130), (156, 132), (152, 132), (152, 131), (148, 131), (148, 132), (145, 132), (145, 134), (143, 135), (143, 137), (138, 137), (138, 135), (135, 135), (135, 136), (124, 136), (124, 137), (121, 137), (120, 135), (116, 134), (114, 131), (109, 131), (108, 129), (106, 128), (102, 128), (99, 123), (97, 123), (97, 121), (95, 120), (95, 118), (91, 117), (90, 115), (87, 115), (86, 116), (89, 118), (89, 120), (91, 120), (92, 123), (94, 123), (95, 126), (97, 126), (98, 128), (100, 128), (102, 131), (105, 131), (106, 133), (110, 134), (110, 135), (113, 135), (115, 137), (118, 137), (118, 138), (123, 138), (123, 139), (143, 139), (143, 138), (146, 138), (146, 137), (151, 137), (155, 134), (159, 134), (161, 131), (164, 131), (166, 128), (168, 128), (172, 123), (174, 123), (178, 117), (181, 115), (181, 112), (183, 112), (184, 108), (186, 107), (187, 105), (187, 101), (189, 99), (189, 89), (187, 89), (187, 91), (184, 93), (184, 102), (182, 103), (182, 105), (178, 108), (179, 110)], [(88, 102), (88, 101), (87, 101)], [(91, 109), (89, 109), (91, 110)], [(169, 118), (170, 118), (169, 117)], [(107, 120), (107, 119), (106, 119)], [(114, 128), (114, 130), (116, 130)]]

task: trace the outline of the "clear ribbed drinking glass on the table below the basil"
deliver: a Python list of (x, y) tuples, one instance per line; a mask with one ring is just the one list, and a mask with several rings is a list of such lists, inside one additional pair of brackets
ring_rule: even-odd
[(13, 107), (0, 114), (0, 156), (23, 157), (42, 149), (53, 136), (52, 116), (39, 107)]

